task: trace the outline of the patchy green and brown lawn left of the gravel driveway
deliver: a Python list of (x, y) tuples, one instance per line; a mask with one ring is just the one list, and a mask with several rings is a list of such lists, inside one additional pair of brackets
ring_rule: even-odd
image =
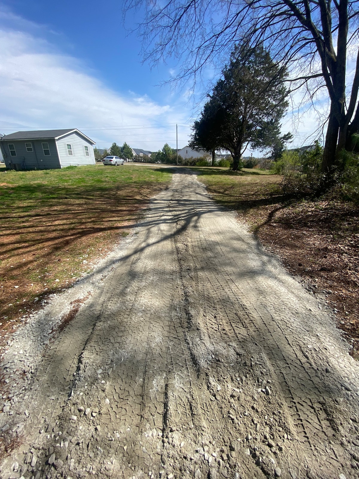
[(0, 169), (0, 330), (128, 234), (171, 174), (154, 165)]

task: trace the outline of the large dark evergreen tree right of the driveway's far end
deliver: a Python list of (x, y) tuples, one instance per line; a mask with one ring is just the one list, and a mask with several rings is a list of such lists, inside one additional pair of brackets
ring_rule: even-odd
[(193, 126), (192, 139), (203, 147), (229, 150), (238, 170), (248, 145), (265, 149), (280, 137), (280, 119), (288, 106), (286, 71), (263, 47), (245, 45), (236, 47), (222, 73)]

